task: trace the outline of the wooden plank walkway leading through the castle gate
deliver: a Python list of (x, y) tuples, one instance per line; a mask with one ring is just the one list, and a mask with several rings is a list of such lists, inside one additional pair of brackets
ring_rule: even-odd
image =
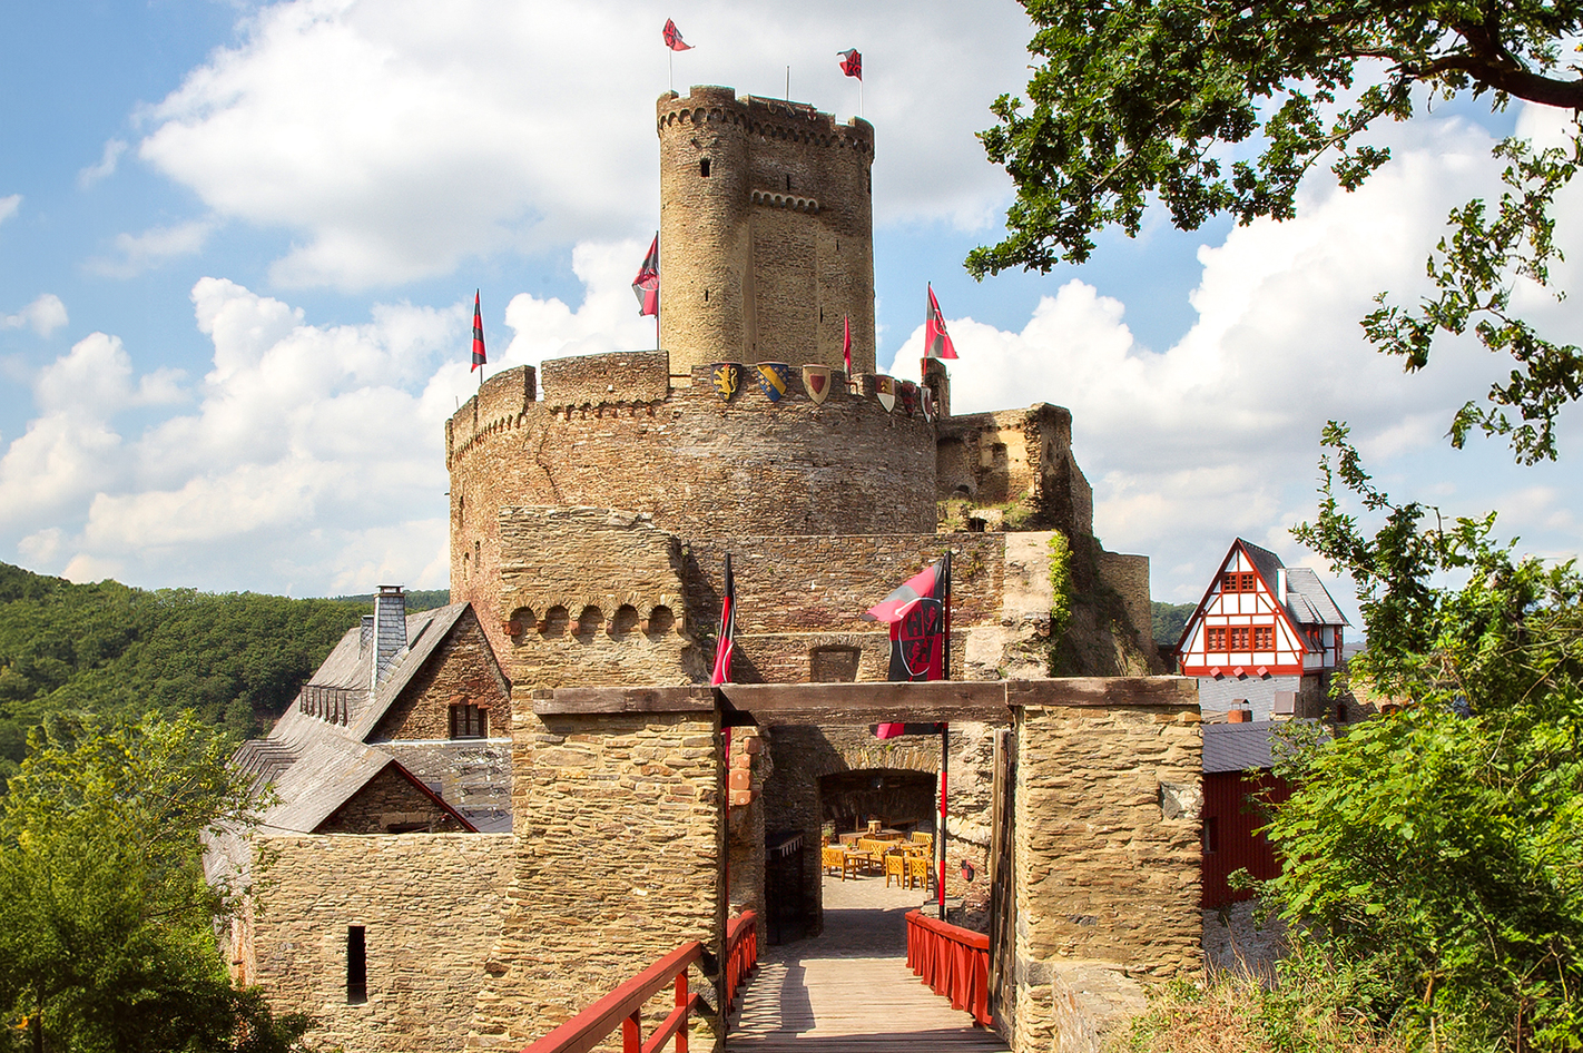
[(825, 933), (765, 948), (731, 1015), (730, 1050), (1008, 1053), (1005, 1040), (907, 967), (904, 915), (918, 891), (885, 879), (825, 880)]

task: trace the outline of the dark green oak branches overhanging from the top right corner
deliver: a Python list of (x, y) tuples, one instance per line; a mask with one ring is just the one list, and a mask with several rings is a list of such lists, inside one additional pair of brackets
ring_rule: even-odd
[[(1436, 334), (1469, 326), (1515, 363), (1452, 421), (1509, 435), (1523, 461), (1555, 458), (1555, 418), (1583, 394), (1583, 355), (1539, 334), (1510, 310), (1512, 285), (1548, 285), (1559, 260), (1550, 204), (1583, 160), (1578, 67), (1564, 54), (1583, 30), (1583, 3), (1564, 0), (1021, 0), (1037, 32), (1027, 101), (996, 100), (981, 133), (989, 158), (1016, 184), (1007, 238), (967, 257), (975, 277), (1007, 268), (1048, 271), (1084, 261), (1097, 230), (1137, 234), (1160, 201), (1183, 230), (1230, 214), (1247, 223), (1295, 214), (1298, 182), (1328, 162), (1357, 188), (1390, 152), (1365, 141), (1379, 120), (1461, 93), (1572, 114), (1567, 149), (1534, 152), (1507, 139), (1507, 190), (1493, 209), (1472, 201), (1429, 258), (1436, 293), (1417, 309), (1380, 306), (1369, 339), (1428, 364)], [(1225, 147), (1257, 143), (1227, 163)], [(1384, 298), (1384, 295), (1382, 295)], [(1515, 413), (1509, 415), (1509, 410)]]

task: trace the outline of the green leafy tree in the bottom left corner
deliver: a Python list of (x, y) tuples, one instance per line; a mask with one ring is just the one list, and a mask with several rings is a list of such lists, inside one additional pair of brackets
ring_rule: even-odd
[(290, 1048), (231, 986), (215, 922), (242, 890), (206, 882), (204, 836), (245, 828), (249, 779), (192, 714), (54, 714), (0, 798), (0, 1017), (35, 1053)]

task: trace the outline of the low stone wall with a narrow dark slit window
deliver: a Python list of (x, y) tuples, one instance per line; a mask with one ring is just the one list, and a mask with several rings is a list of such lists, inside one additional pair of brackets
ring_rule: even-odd
[[(461, 1048), (500, 929), (508, 834), (260, 838), (250, 982), (310, 1013), (345, 1053)], [(347, 1001), (347, 929), (363, 926), (367, 1001)]]

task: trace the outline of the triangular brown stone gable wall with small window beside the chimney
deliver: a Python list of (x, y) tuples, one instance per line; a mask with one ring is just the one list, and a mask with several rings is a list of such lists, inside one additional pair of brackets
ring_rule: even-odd
[(483, 625), (464, 611), (424, 667), (412, 678), (367, 741), (443, 739), (451, 736), (451, 706), (475, 705), (489, 713), (491, 727), (511, 727), (511, 689), (495, 668)]

